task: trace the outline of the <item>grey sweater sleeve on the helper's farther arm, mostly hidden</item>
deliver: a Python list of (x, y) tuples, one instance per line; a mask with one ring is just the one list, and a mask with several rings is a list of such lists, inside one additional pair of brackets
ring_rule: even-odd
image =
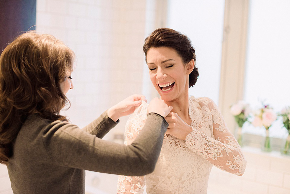
[(116, 124), (119, 123), (119, 119), (117, 122), (108, 117), (108, 110), (101, 114), (97, 119), (95, 119), (92, 123), (88, 124), (82, 130), (85, 130), (92, 135), (97, 136), (98, 138), (103, 138)]

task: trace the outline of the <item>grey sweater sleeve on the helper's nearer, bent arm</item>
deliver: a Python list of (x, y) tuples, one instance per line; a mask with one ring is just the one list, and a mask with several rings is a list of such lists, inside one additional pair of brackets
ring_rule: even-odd
[[(113, 127), (104, 120), (97, 124)], [(163, 117), (150, 113), (140, 135), (126, 146), (101, 140), (68, 122), (54, 121), (44, 127), (42, 139), (53, 163), (101, 173), (141, 176), (153, 172), (167, 127)]]

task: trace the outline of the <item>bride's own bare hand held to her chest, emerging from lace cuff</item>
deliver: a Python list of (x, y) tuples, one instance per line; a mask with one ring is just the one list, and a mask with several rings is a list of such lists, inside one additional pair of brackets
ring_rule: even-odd
[(167, 117), (165, 117), (165, 119), (169, 124), (167, 131), (165, 132), (167, 134), (176, 136), (181, 140), (185, 140), (188, 133), (192, 132), (192, 127), (185, 123), (177, 113), (171, 112)]

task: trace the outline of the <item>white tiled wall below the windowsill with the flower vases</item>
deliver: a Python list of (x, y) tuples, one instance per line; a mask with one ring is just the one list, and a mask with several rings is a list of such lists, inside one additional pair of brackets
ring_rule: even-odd
[[(243, 148), (247, 160), (243, 176), (211, 170), (208, 194), (284, 194), (290, 193), (289, 156), (278, 152), (263, 153), (257, 148)], [(272, 164), (272, 165), (270, 165)]]

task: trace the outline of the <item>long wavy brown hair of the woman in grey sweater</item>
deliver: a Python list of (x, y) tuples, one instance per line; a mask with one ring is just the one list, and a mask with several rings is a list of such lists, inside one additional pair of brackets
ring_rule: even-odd
[(66, 120), (60, 110), (69, 100), (60, 83), (73, 69), (75, 54), (52, 35), (34, 31), (18, 36), (0, 56), (0, 163), (8, 164), (15, 140), (33, 113)]

